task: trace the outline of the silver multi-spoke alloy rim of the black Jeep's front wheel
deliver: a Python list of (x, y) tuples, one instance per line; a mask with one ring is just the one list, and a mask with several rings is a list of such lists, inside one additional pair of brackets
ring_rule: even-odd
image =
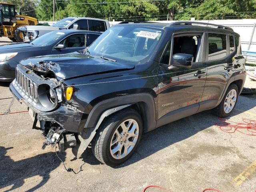
[(136, 120), (128, 119), (115, 130), (110, 142), (110, 154), (115, 159), (126, 157), (134, 148), (139, 136)]

